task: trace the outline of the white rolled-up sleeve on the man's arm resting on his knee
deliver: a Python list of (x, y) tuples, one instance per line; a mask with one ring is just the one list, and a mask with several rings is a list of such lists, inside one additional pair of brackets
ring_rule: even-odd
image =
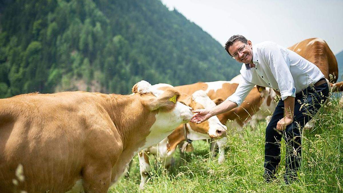
[(279, 86), (281, 99), (285, 100), (288, 96), (295, 97), (294, 79), (285, 58), (287, 53), (283, 53), (283, 50), (276, 45), (270, 44), (264, 47), (264, 56), (269, 60), (268, 64)]

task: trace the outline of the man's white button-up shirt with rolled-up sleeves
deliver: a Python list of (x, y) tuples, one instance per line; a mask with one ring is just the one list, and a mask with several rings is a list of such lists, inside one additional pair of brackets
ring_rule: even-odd
[(273, 42), (262, 42), (252, 47), (255, 67), (243, 64), (240, 73), (243, 80), (235, 93), (226, 100), (238, 106), (255, 84), (270, 87), (281, 94), (281, 99), (295, 97), (296, 93), (324, 78), (319, 68), (297, 53)]

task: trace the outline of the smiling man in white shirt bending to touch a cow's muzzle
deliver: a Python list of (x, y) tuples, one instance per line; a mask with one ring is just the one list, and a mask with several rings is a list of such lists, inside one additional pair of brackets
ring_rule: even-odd
[(301, 159), (301, 128), (315, 115), (329, 88), (319, 68), (295, 52), (272, 42), (252, 45), (244, 36), (234, 35), (225, 44), (227, 53), (244, 63), (243, 80), (236, 92), (211, 109), (193, 111), (192, 122), (201, 123), (239, 106), (255, 84), (270, 87), (281, 94), (265, 131), (264, 174), (267, 182), (275, 178), (280, 164), (280, 141), (286, 143), (285, 182), (297, 177)]

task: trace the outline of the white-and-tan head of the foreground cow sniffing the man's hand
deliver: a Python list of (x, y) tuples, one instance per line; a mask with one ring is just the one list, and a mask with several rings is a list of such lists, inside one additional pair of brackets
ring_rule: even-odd
[(150, 128), (147, 138), (149, 144), (146, 144), (146, 147), (158, 143), (177, 126), (188, 123), (193, 116), (191, 107), (177, 102), (180, 93), (174, 88), (168, 88), (166, 91), (156, 90), (149, 82), (142, 80), (133, 86), (132, 92), (139, 94), (143, 106), (155, 113), (156, 120)]

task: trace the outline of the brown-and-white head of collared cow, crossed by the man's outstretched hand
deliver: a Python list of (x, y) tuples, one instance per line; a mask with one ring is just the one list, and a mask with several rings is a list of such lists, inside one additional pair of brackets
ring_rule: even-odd
[[(188, 105), (188, 104), (187, 104)], [(208, 109), (214, 107), (216, 104), (203, 90), (194, 92), (191, 96), (189, 106), (194, 110)], [(212, 116), (208, 121), (200, 124), (189, 123), (189, 136), (191, 140), (208, 139), (222, 137), (226, 134), (226, 126), (224, 126), (217, 116)]]

